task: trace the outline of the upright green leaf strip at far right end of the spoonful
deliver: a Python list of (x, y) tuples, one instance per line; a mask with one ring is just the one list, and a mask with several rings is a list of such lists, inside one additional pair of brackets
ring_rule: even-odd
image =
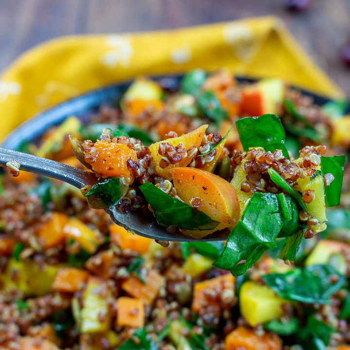
[(345, 156), (321, 157), (322, 173), (331, 173), (334, 176), (331, 184), (325, 186), (327, 207), (336, 207), (340, 204), (344, 165)]

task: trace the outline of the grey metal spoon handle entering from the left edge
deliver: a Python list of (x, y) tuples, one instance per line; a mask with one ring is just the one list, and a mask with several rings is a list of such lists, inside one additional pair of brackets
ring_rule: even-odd
[(85, 185), (93, 185), (97, 182), (95, 174), (91, 172), (77, 169), (54, 160), (0, 147), (0, 166), (5, 167), (6, 163), (11, 160), (18, 161), (20, 170), (53, 177), (79, 189)]

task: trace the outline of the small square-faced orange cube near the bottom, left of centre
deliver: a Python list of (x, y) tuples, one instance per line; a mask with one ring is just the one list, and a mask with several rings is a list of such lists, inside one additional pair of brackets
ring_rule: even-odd
[(128, 327), (143, 327), (143, 301), (138, 298), (119, 297), (117, 299), (117, 325)]

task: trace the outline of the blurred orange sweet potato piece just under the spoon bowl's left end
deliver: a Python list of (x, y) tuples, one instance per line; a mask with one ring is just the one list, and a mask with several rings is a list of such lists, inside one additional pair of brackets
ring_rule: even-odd
[(121, 249), (131, 249), (139, 253), (147, 253), (152, 240), (150, 238), (134, 235), (119, 225), (109, 226), (110, 241), (119, 245)]

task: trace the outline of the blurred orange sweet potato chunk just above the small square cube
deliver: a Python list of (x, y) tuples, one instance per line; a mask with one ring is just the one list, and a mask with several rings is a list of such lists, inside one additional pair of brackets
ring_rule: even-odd
[(156, 270), (149, 270), (145, 278), (146, 284), (142, 284), (140, 279), (131, 275), (123, 282), (123, 290), (133, 297), (142, 299), (146, 305), (151, 305), (159, 293), (159, 289), (165, 283), (165, 278)]

